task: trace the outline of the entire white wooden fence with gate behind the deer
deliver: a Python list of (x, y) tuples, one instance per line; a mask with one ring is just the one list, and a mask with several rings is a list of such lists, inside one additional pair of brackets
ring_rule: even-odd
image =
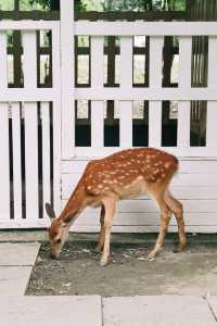
[[(42, 115), (43, 202), (50, 199), (49, 102), (53, 108), (54, 203), (65, 204), (87, 162), (132, 146), (132, 101), (149, 101), (149, 146), (162, 146), (162, 101), (178, 101), (177, 147), (166, 150), (181, 160), (173, 190), (182, 200), (189, 231), (217, 231), (217, 23), (74, 22), (72, 1), (61, 2), (60, 22), (0, 22), (0, 138), (1, 184), (0, 226), (38, 227), (47, 225), (39, 216), (37, 155), (37, 104)], [(7, 82), (5, 30), (23, 30), (24, 88), (9, 89)], [(52, 30), (52, 88), (36, 87), (36, 29)], [(74, 36), (91, 40), (91, 86), (74, 85)], [(104, 36), (120, 36), (120, 85), (103, 86)], [(150, 36), (149, 87), (132, 87), (132, 40)], [(177, 88), (162, 87), (164, 36), (179, 36), (179, 83)], [(208, 36), (208, 86), (191, 87), (192, 36)], [(61, 55), (61, 63), (60, 63)], [(75, 100), (91, 100), (91, 146), (75, 146)], [(118, 101), (119, 147), (104, 147), (104, 103)], [(190, 104), (207, 101), (206, 146), (190, 146)], [(22, 215), (21, 180), (21, 102), (25, 116), (25, 198), (26, 218)], [(12, 103), (14, 218), (10, 217), (9, 103)], [(74, 230), (95, 231), (99, 211), (87, 210)], [(116, 231), (154, 231), (158, 214), (148, 198), (123, 201), (115, 221)], [(176, 230), (175, 221), (170, 230)]]

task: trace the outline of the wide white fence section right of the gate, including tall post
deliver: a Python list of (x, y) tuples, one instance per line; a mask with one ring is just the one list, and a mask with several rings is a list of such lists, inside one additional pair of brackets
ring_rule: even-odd
[[(71, 1), (63, 4), (61, 38), (66, 45), (62, 51), (67, 58), (63, 63), (67, 78), (63, 87), (62, 205), (90, 159), (132, 146), (157, 147), (181, 161), (173, 191), (183, 202), (188, 231), (216, 233), (217, 23), (73, 22)], [(176, 43), (178, 72), (175, 83), (165, 85), (168, 37)], [(137, 46), (140, 38), (143, 43)], [(68, 58), (73, 39), (75, 52)], [(112, 54), (110, 42), (115, 43)], [(85, 55), (89, 74), (79, 80)], [(113, 83), (114, 63), (107, 64), (112, 55), (116, 64)], [(144, 57), (145, 78), (139, 82), (137, 55)], [(68, 76), (72, 66), (74, 79)], [(73, 229), (98, 230), (99, 215), (99, 211), (86, 210)], [(158, 224), (154, 203), (144, 197), (119, 203), (113, 230), (155, 231)], [(177, 230), (175, 220), (170, 230)]]

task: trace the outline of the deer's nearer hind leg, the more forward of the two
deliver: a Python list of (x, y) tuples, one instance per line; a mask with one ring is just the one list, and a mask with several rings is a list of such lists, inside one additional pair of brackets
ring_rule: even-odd
[[(153, 196), (153, 195), (152, 195)], [(169, 209), (168, 204), (164, 200), (164, 195), (155, 195), (154, 196), (161, 211), (161, 227), (159, 227), (159, 234), (155, 243), (154, 249), (149, 254), (150, 260), (154, 260), (156, 254), (159, 252), (159, 250), (163, 247), (164, 239), (167, 233), (167, 228), (169, 225), (169, 221), (171, 218), (171, 210)]]

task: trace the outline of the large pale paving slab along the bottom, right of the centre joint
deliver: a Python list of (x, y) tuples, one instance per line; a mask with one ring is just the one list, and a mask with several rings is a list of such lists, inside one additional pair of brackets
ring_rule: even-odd
[(103, 299), (104, 326), (216, 326), (206, 300), (146, 296)]

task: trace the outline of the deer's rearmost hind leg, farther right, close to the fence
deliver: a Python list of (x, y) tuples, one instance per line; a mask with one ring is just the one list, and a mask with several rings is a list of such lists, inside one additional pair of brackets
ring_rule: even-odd
[(168, 189), (165, 191), (165, 201), (176, 217), (178, 231), (179, 231), (178, 251), (182, 251), (184, 250), (187, 244), (182, 204), (180, 201), (178, 201), (176, 198), (173, 197), (173, 195)]

